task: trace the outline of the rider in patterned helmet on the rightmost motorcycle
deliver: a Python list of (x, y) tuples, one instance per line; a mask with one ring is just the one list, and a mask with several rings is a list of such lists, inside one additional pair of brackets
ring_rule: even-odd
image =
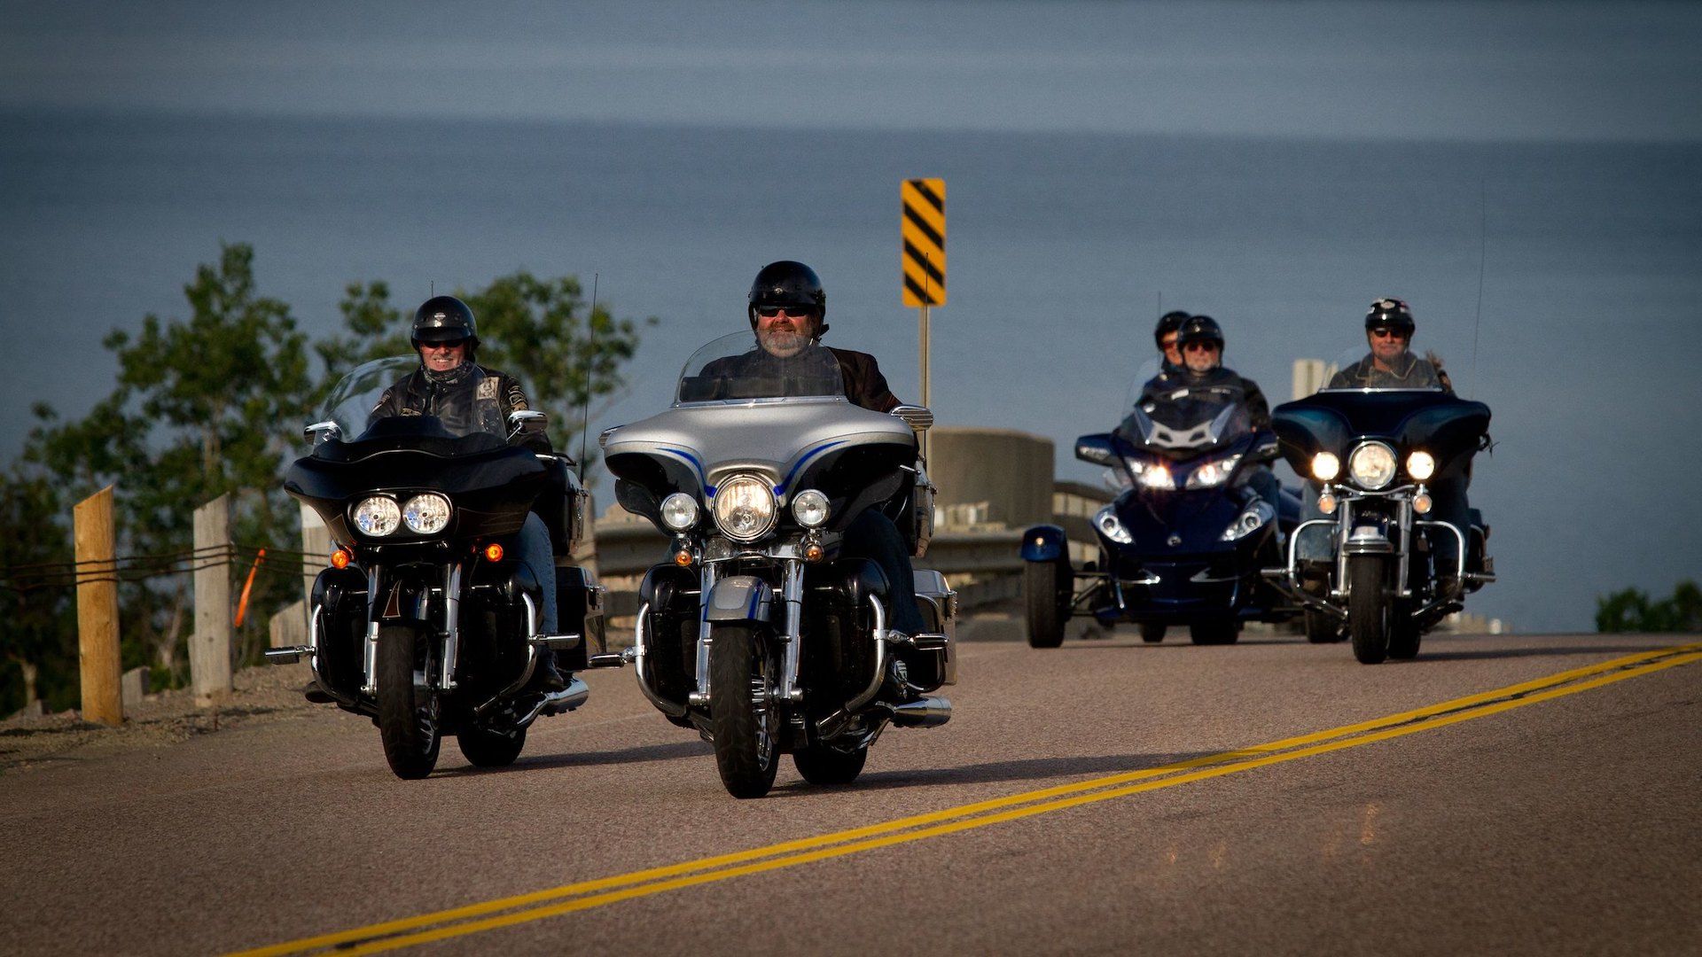
[[(1448, 373), (1442, 371), (1442, 361), (1435, 354), (1419, 358), (1413, 354), (1413, 310), (1401, 300), (1384, 296), (1372, 303), (1365, 313), (1365, 344), (1370, 352), (1351, 366), (1338, 371), (1329, 380), (1328, 388), (1442, 388), (1454, 395), (1454, 383)], [(1471, 506), (1465, 499), (1465, 487), (1471, 484), (1471, 470), (1459, 477), (1436, 478), (1430, 489), (1430, 519), (1445, 521), (1465, 535), (1471, 528)], [(1307, 478), (1305, 484), (1305, 518), (1324, 518), (1317, 507), (1317, 482)], [(1328, 574), (1331, 559), (1324, 535), (1305, 535), (1300, 538), (1299, 555), (1302, 565), (1302, 584), (1321, 594), (1321, 581)], [(1460, 543), (1448, 533), (1430, 538), (1431, 555), (1436, 564), (1436, 586), (1443, 596), (1459, 594)], [(1322, 567), (1321, 567), (1322, 565)]]

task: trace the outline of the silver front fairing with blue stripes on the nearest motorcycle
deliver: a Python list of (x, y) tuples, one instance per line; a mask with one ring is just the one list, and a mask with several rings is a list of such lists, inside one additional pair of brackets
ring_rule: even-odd
[(715, 496), (715, 485), (734, 472), (757, 472), (785, 499), (822, 453), (860, 444), (914, 448), (916, 438), (895, 415), (842, 397), (808, 397), (681, 404), (609, 431), (603, 448), (616, 475), (623, 472), (618, 456), (643, 455), (681, 463), (701, 496)]

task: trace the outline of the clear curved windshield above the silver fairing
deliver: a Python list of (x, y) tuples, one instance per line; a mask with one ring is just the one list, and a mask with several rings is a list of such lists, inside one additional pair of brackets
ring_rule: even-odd
[(722, 335), (686, 359), (674, 407), (844, 398), (839, 359), (791, 332)]

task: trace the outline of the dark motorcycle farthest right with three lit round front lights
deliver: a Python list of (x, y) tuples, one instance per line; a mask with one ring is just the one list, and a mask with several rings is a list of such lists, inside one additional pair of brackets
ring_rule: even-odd
[[(1355, 349), (1333, 368), (1360, 358)], [(1294, 470), (1319, 482), (1322, 518), (1300, 523), (1287, 564), (1271, 570), (1305, 605), (1307, 639), (1346, 635), (1363, 664), (1416, 657), (1428, 628), (1462, 610), (1465, 593), (1494, 581), (1482, 513), (1471, 509), (1464, 530), (1426, 518), (1436, 484), (1464, 482), (1472, 456), (1488, 446), (1489, 407), (1440, 383), (1343, 385), (1278, 405), (1271, 419)], [(1304, 535), (1329, 540), (1328, 581), (1311, 591), (1297, 548)], [(1438, 567), (1438, 536), (1455, 545), (1452, 567)], [(1459, 586), (1445, 587), (1448, 579)]]

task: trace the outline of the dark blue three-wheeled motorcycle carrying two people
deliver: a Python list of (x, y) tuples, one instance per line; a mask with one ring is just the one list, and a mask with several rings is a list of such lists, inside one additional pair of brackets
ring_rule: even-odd
[(1140, 383), (1156, 371), (1149, 363), (1135, 378), (1130, 412), (1115, 431), (1076, 439), (1076, 458), (1108, 467), (1122, 487), (1093, 516), (1098, 560), (1074, 567), (1055, 524), (1023, 533), (1031, 647), (1059, 647), (1072, 615), (1106, 628), (1139, 623), (1147, 642), (1186, 625), (1193, 644), (1222, 645), (1239, 637), (1244, 622), (1299, 613), (1263, 581), (1299, 521), (1299, 496), (1280, 489), (1271, 504), (1248, 484), (1254, 468), (1276, 458), (1276, 438), (1253, 429), (1239, 385), (1142, 395)]

